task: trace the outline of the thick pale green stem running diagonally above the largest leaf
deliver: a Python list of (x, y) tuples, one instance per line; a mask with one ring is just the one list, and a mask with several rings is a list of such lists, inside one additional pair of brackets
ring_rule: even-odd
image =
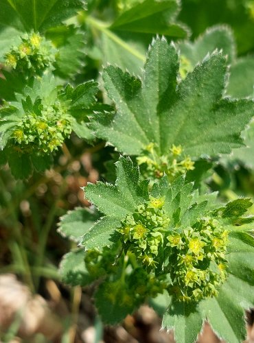
[(111, 38), (115, 43), (117, 43), (120, 47), (124, 48), (126, 51), (130, 52), (133, 56), (139, 58), (142, 62), (146, 62), (146, 57), (143, 56), (137, 49), (130, 47), (127, 43), (124, 42), (119, 36), (114, 34), (111, 29), (108, 29), (108, 25), (103, 23), (102, 21), (98, 21), (97, 19), (93, 18), (92, 16), (86, 16), (86, 23), (89, 23), (91, 26), (95, 27), (96, 29), (100, 30), (106, 36)]

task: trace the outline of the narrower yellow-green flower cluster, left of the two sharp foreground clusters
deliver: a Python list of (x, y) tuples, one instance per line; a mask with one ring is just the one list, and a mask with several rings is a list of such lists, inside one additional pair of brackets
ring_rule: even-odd
[(127, 215), (118, 229), (124, 244), (130, 246), (129, 250), (150, 268), (157, 265), (156, 257), (163, 246), (163, 233), (170, 223), (163, 209), (164, 202), (164, 198), (151, 196), (149, 201), (137, 206), (132, 215)]

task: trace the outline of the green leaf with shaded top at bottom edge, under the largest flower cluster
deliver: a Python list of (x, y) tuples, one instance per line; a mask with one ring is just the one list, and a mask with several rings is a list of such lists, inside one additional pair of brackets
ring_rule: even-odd
[(195, 342), (202, 325), (203, 319), (193, 305), (173, 301), (162, 321), (163, 329), (174, 329), (174, 339), (179, 343)]

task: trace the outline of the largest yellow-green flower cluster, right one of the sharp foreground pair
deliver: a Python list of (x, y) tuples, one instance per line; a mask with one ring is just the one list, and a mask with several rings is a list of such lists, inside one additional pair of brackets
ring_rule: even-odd
[(211, 217), (168, 235), (170, 294), (181, 301), (218, 294), (218, 287), (227, 279), (227, 236), (227, 230)]

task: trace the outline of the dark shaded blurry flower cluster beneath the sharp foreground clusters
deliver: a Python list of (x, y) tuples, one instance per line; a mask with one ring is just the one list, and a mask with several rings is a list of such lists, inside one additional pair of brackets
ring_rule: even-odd
[[(143, 303), (146, 298), (157, 296), (167, 287), (165, 276), (156, 277), (143, 268), (137, 267), (135, 255), (119, 255), (117, 250), (104, 247), (102, 251), (92, 249), (86, 251), (84, 262), (86, 270), (94, 278), (108, 277), (105, 283), (105, 296), (111, 303), (121, 301), (122, 305)], [(131, 257), (130, 257), (131, 255)], [(135, 261), (135, 266), (132, 264)], [(121, 294), (122, 296), (119, 296)]]

